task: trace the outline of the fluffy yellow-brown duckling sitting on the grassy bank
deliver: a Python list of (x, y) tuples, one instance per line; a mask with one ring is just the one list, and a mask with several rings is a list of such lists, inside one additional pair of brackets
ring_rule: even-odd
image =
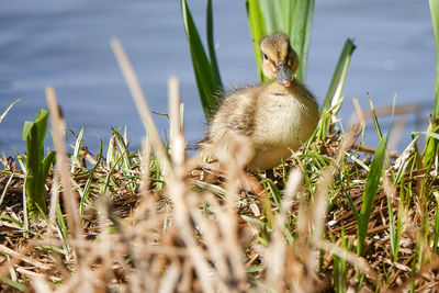
[[(297, 150), (313, 134), (319, 117), (313, 94), (294, 78), (297, 54), (284, 33), (259, 44), (263, 74), (272, 81), (235, 91), (219, 103), (209, 124), (202, 149), (224, 165), (236, 159), (237, 146), (247, 145), (244, 165), (267, 170)], [(238, 155), (243, 159), (243, 153)]]

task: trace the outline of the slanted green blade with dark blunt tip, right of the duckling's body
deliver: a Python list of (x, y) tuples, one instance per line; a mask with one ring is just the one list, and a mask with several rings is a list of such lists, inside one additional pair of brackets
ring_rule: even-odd
[(333, 80), (329, 83), (328, 92), (326, 93), (325, 101), (322, 109), (329, 109), (334, 102), (337, 102), (341, 97), (341, 91), (345, 86), (346, 75), (348, 72), (349, 63), (356, 45), (353, 41), (348, 38), (345, 43), (341, 55), (338, 58), (337, 67), (333, 76)]

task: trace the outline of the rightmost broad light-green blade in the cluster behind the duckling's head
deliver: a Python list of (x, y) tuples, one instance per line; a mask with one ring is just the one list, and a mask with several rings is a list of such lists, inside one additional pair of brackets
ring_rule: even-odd
[(290, 31), (290, 41), (292, 47), (299, 56), (300, 65), (296, 77), (302, 82), (304, 82), (306, 79), (306, 66), (313, 15), (314, 0), (295, 1), (294, 10), (292, 11), (293, 22)]

